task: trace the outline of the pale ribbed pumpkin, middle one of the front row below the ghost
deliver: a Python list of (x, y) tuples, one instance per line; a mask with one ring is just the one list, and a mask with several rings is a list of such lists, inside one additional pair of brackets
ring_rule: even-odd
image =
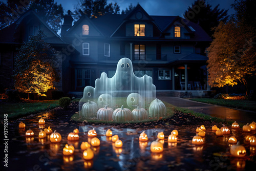
[(132, 115), (132, 112), (127, 108), (123, 108), (122, 105), (121, 108), (118, 108), (113, 112), (112, 118), (114, 121), (119, 122), (131, 121)]

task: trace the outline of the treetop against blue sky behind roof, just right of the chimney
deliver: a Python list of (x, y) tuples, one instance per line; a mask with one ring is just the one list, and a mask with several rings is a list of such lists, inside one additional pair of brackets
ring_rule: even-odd
[(119, 14), (119, 11), (120, 7), (117, 3), (108, 4), (107, 0), (80, 0), (72, 16), (76, 21), (84, 14), (90, 18), (97, 18), (108, 13)]

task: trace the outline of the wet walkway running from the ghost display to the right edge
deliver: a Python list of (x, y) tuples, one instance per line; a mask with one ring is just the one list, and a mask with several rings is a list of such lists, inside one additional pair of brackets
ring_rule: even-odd
[(252, 111), (235, 110), (219, 105), (206, 104), (179, 97), (159, 96), (157, 98), (175, 106), (187, 108), (195, 112), (204, 113), (212, 117), (233, 120), (244, 124), (256, 121), (256, 112)]

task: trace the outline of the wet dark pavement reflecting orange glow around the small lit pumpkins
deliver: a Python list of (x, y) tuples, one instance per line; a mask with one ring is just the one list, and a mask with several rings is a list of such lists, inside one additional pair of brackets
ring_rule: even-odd
[[(60, 143), (51, 143), (49, 136), (44, 139), (38, 138), (40, 132), (38, 120), (46, 118), (46, 124), (42, 127), (51, 126), (61, 134)], [(18, 123), (26, 123), (26, 130), (34, 131), (32, 138), (25, 137), (26, 130), (18, 129)], [(246, 148), (246, 156), (234, 158), (230, 155), (230, 145), (227, 143), (231, 135), (217, 137), (210, 126), (206, 126), (206, 136), (203, 138), (204, 145), (193, 145), (191, 139), (196, 134), (195, 126), (172, 126), (163, 129), (145, 130), (149, 141), (139, 142), (142, 131), (137, 129), (119, 129), (111, 125), (80, 125), (70, 119), (70, 116), (56, 115), (54, 112), (40, 113), (24, 119), (10, 121), (9, 124), (9, 151), (8, 170), (236, 170), (249, 169), (255, 164), (256, 146), (250, 146), (245, 141), (242, 129), (231, 129), (231, 135)], [(68, 141), (67, 136), (75, 128), (79, 129), (79, 141)], [(90, 141), (87, 133), (91, 129), (97, 131), (100, 146), (94, 147), (94, 158), (84, 160), (80, 144)], [(160, 127), (161, 128), (161, 127)], [(113, 142), (105, 136), (106, 130), (111, 129), (113, 135), (117, 134), (123, 142), (122, 148), (116, 148)], [(174, 129), (179, 131), (178, 142), (168, 143), (167, 137)], [(140, 129), (141, 130), (141, 129)], [(164, 151), (160, 154), (152, 154), (151, 142), (156, 140), (158, 132), (164, 132)], [(75, 152), (71, 156), (63, 156), (62, 149), (65, 144), (73, 144)], [(3, 148), (2, 148), (3, 149)]]

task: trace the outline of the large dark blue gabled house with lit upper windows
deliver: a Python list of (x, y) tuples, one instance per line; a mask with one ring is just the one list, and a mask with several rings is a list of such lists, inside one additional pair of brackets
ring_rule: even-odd
[(93, 19), (84, 15), (74, 24), (68, 12), (60, 37), (35, 12), (27, 11), (0, 30), (0, 86), (12, 83), (16, 48), (41, 29), (46, 42), (59, 51), (62, 79), (57, 88), (67, 94), (95, 87), (102, 72), (114, 76), (123, 57), (132, 60), (136, 76), (151, 76), (157, 90), (195, 90), (196, 85), (206, 89), (204, 51), (212, 40), (199, 25), (183, 23), (179, 16), (150, 16), (140, 5), (127, 14)]

